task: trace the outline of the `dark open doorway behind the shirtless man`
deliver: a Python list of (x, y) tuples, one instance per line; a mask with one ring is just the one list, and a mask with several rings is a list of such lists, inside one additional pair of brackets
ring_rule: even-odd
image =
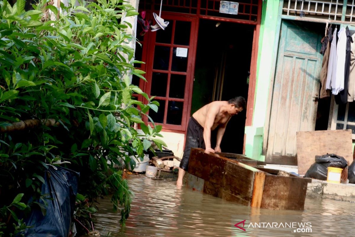
[[(255, 26), (200, 20), (191, 115), (212, 101), (236, 96), (248, 99)], [(243, 152), (246, 109), (231, 118), (224, 133), (222, 152)], [(215, 144), (217, 131), (211, 135)]]

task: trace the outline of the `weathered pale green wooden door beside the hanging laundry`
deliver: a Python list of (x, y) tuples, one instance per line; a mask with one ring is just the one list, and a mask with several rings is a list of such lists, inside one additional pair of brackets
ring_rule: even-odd
[(289, 21), (281, 25), (268, 133), (268, 163), (296, 165), (296, 132), (315, 129), (322, 36), (309, 26)]

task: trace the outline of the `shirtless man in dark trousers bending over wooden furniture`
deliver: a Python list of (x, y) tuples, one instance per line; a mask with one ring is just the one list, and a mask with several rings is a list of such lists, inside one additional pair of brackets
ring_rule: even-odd
[[(221, 152), (220, 144), (230, 118), (241, 112), (246, 106), (245, 99), (241, 96), (229, 101), (214, 101), (206, 104), (194, 114), (187, 126), (184, 155), (179, 168), (177, 186), (182, 185), (182, 178), (189, 166), (189, 158), (192, 147), (205, 149), (207, 152)], [(217, 144), (211, 147), (211, 131), (217, 130)]]

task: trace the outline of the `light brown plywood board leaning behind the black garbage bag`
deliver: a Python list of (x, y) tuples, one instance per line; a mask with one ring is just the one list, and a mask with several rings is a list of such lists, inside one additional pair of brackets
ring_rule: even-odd
[(346, 161), (353, 159), (351, 130), (297, 132), (298, 174), (304, 175), (315, 162), (315, 156), (334, 153)]

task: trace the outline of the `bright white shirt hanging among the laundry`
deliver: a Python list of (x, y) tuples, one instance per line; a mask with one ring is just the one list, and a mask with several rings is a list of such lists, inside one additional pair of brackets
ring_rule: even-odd
[(337, 72), (335, 74), (335, 81), (331, 83), (332, 94), (338, 95), (338, 93), (344, 90), (344, 74), (345, 74), (345, 50), (346, 50), (346, 33), (345, 28), (340, 28), (338, 32), (337, 43)]

